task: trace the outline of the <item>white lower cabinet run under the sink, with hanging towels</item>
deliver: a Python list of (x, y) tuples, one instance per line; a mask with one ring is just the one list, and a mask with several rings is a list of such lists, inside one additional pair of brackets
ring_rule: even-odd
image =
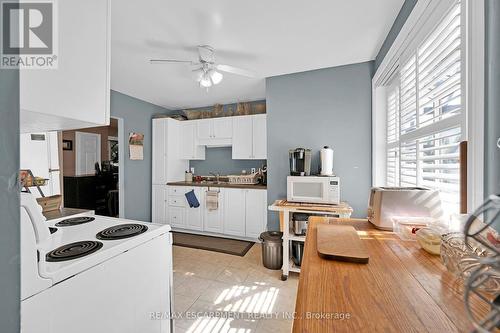
[[(267, 191), (216, 188), (219, 204), (209, 210), (205, 204), (208, 187), (153, 186), (153, 222), (174, 228), (205, 231), (227, 236), (258, 238), (267, 225)], [(189, 207), (185, 194), (194, 190), (200, 206)]]

